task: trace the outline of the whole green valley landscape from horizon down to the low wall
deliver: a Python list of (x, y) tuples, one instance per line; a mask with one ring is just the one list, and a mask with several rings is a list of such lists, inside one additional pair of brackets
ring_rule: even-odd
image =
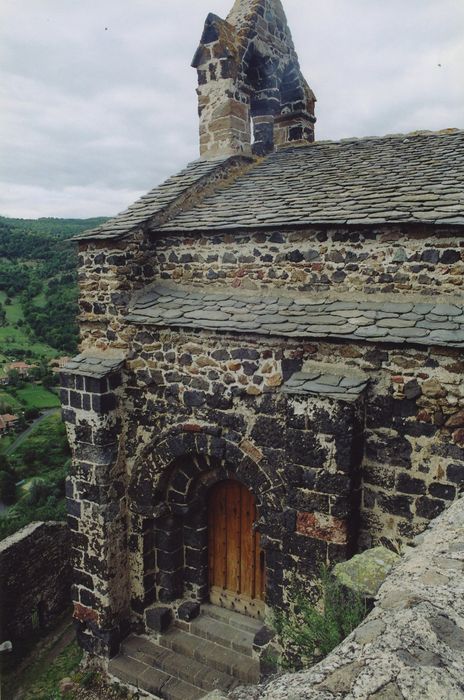
[[(64, 516), (69, 447), (50, 360), (77, 350), (77, 252), (72, 236), (106, 219), (0, 217), (0, 539)], [(10, 364), (32, 368), (22, 377)], [(46, 411), (46, 413), (43, 413)], [(41, 415), (42, 414), (42, 415)]]

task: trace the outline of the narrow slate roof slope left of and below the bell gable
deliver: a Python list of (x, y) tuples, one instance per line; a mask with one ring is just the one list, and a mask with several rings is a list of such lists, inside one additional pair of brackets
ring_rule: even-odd
[(189, 163), (184, 170), (155, 187), (125, 211), (97, 228), (74, 236), (73, 240), (124, 237), (147, 221), (156, 220), (193, 185), (214, 174), (215, 170), (220, 170), (228, 161), (236, 162), (236, 159), (196, 160)]

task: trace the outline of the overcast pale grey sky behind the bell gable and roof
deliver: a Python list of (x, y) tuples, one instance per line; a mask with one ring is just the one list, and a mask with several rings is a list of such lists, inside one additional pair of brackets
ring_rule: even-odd
[[(0, 0), (0, 214), (112, 215), (197, 157), (232, 0)], [(464, 0), (284, 0), (317, 138), (464, 128)]]

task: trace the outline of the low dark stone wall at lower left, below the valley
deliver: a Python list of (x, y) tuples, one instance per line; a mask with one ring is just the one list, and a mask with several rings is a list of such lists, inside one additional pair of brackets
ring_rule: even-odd
[(32, 523), (0, 542), (0, 641), (21, 645), (50, 627), (71, 604), (70, 587), (64, 523)]

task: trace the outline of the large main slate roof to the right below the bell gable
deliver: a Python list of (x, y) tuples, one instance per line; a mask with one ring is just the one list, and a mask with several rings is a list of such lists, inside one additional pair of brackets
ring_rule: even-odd
[(278, 150), (160, 229), (390, 222), (464, 225), (464, 131)]

